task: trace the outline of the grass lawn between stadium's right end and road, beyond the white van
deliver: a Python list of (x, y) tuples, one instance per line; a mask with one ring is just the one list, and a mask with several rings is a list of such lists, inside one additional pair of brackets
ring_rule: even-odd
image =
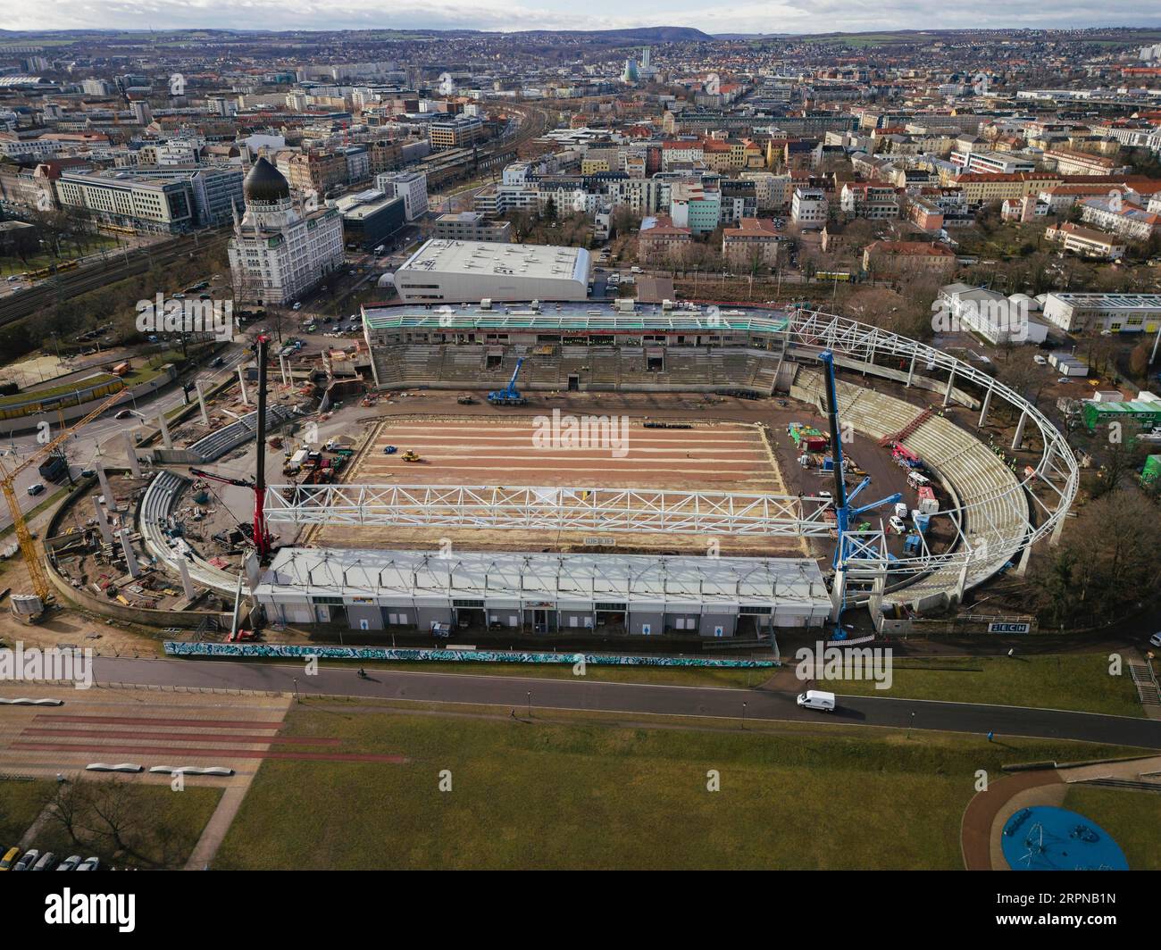
[(896, 660), (893, 669), (889, 690), (875, 690), (868, 679), (832, 682), (832, 689), (850, 696), (1144, 715), (1127, 667), (1122, 676), (1109, 676), (1108, 654)]

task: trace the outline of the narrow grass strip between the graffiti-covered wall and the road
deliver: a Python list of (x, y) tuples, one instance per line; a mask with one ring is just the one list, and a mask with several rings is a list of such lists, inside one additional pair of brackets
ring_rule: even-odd
[[(330, 661), (323, 661), (327, 663)], [(349, 665), (349, 664), (345, 664)], [(536, 679), (580, 679), (572, 676), (572, 664), (548, 663), (361, 663), (368, 670), (401, 672), (452, 672), (463, 676), (524, 676)], [(585, 681), (596, 683), (658, 683), (668, 686), (730, 686), (748, 689), (765, 683), (778, 667), (738, 670), (712, 667), (598, 667), (585, 665)]]

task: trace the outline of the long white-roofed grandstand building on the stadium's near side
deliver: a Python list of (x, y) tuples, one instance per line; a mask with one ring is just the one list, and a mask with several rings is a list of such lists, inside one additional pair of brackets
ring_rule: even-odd
[(254, 593), (269, 622), (401, 632), (755, 636), (831, 610), (809, 559), (283, 548)]

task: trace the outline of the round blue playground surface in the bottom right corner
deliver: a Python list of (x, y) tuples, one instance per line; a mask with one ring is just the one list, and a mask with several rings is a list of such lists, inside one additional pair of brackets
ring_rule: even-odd
[(1021, 808), (1004, 823), (1001, 844), (1014, 871), (1128, 870), (1109, 833), (1067, 808)]

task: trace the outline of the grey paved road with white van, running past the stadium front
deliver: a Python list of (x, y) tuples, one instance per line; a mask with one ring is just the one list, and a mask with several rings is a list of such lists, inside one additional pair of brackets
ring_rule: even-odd
[[(531, 692), (534, 710), (539, 706), (654, 713), (731, 719), (740, 722), (743, 701), (747, 719), (817, 722), (823, 715), (800, 710), (792, 693), (597, 683), (580, 678), (569, 681), (375, 670), (369, 672), (369, 679), (360, 679), (355, 670), (345, 668), (323, 667), (318, 675), (305, 676), (302, 664), (113, 657), (98, 657), (94, 661), (94, 677), (99, 683), (240, 688), (280, 692), (290, 692), (297, 685), (298, 691), (305, 694), (473, 703), (518, 710), (526, 707)], [(902, 728), (911, 725), (916, 729), (975, 733), (980, 736), (993, 731), (1001, 742), (1005, 735), (1023, 735), (1161, 749), (1161, 721), (1148, 719), (878, 697), (843, 697), (838, 705), (839, 710), (827, 718), (827, 721)]]

